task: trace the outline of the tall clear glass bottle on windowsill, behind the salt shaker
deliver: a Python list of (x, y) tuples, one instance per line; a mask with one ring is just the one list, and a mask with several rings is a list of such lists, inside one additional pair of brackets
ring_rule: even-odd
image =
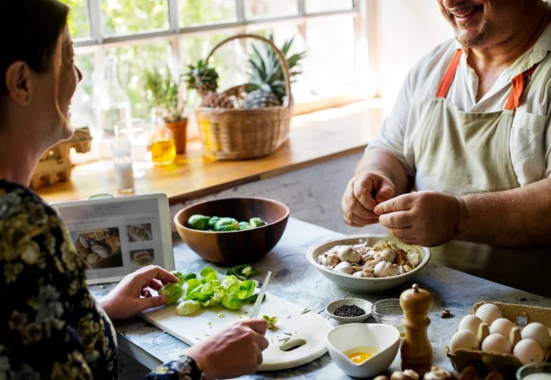
[(101, 158), (112, 157), (111, 140), (115, 125), (132, 123), (130, 100), (118, 81), (118, 59), (114, 55), (105, 60), (105, 81), (98, 97), (99, 151)]

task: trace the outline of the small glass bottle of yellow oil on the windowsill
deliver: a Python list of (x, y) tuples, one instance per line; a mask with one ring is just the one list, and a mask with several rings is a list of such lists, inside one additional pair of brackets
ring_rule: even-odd
[(155, 166), (168, 165), (176, 158), (174, 135), (165, 125), (165, 119), (159, 110), (154, 109), (152, 116), (153, 132), (148, 143), (151, 160)]

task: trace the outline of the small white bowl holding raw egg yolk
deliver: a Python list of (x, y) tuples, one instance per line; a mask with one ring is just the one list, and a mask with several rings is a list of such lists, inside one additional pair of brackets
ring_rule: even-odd
[[(344, 324), (327, 333), (326, 344), (331, 359), (352, 377), (375, 377), (388, 370), (398, 352), (400, 333), (385, 324)], [(371, 357), (355, 363), (345, 352), (371, 351)]]

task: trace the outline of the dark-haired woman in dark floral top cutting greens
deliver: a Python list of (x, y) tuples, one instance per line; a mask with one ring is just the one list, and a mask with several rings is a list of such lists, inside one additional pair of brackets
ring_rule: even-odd
[[(178, 279), (147, 266), (99, 304), (90, 295), (63, 221), (28, 189), (43, 152), (72, 135), (70, 102), (82, 74), (68, 8), (57, 0), (3, 0), (0, 8), (0, 379), (114, 379), (111, 319), (165, 304), (150, 289)], [(262, 319), (240, 321), (147, 378), (256, 372), (266, 328)]]

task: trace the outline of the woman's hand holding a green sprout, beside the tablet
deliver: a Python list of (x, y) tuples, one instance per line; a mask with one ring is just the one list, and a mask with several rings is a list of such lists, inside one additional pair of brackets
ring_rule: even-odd
[(126, 275), (99, 303), (111, 319), (132, 317), (147, 308), (165, 304), (167, 297), (154, 296), (149, 289), (158, 291), (169, 282), (178, 282), (178, 278), (160, 266), (145, 266)]

